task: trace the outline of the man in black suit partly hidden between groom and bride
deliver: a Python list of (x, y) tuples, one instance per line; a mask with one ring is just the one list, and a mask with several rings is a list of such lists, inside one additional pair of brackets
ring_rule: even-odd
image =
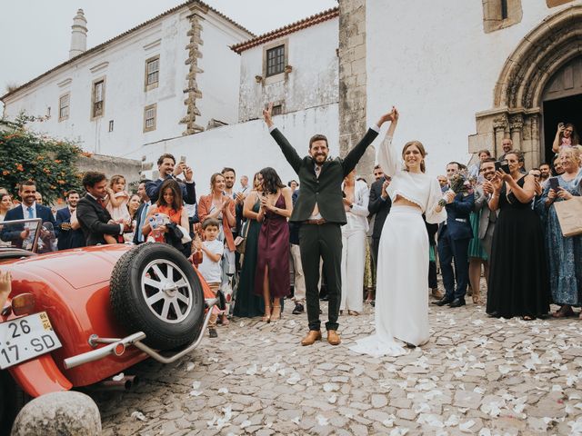
[[(376, 272), (380, 236), (386, 217), (390, 213), (392, 201), (388, 197), (388, 193), (386, 193), (386, 189), (390, 185), (390, 177), (384, 174), (380, 165), (374, 167), (374, 177), (376, 177), (376, 182), (372, 183), (370, 188), (370, 201), (367, 203), (367, 212), (370, 213), (368, 215), (370, 218), (372, 216), (375, 217), (372, 230), (372, 265), (374, 272)], [(376, 277), (376, 273), (373, 273), (373, 275)]]

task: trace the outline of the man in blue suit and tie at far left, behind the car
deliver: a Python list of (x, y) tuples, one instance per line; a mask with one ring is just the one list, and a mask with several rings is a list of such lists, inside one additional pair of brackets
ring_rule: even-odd
[[(37, 204), (35, 200), (36, 183), (32, 180), (27, 180), (20, 183), (18, 188), (18, 196), (22, 203), (13, 209), (10, 209), (5, 216), (4, 221), (23, 220), (28, 218), (42, 218), (43, 223), (52, 223), (55, 226), (55, 218), (49, 207)], [(33, 232), (34, 233), (34, 232)], [(31, 234), (29, 227), (24, 224), (4, 225), (0, 239), (4, 242), (10, 241), (13, 246), (23, 248), (25, 241), (32, 241), (34, 234)], [(42, 234), (41, 234), (42, 236)], [(24, 244), (26, 245), (26, 244)], [(24, 248), (28, 248), (25, 246)]]

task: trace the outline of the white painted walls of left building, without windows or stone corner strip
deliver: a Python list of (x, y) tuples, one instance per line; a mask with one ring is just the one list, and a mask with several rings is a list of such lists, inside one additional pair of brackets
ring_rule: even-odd
[[(143, 144), (181, 135), (186, 130), (186, 125), (179, 121), (186, 114), (183, 90), (189, 68), (185, 64), (186, 45), (190, 40), (186, 35), (190, 29), (188, 14), (187, 8), (176, 11), (105, 46), (98, 53), (81, 56), (7, 98), (5, 115), (12, 119), (23, 109), (27, 114), (45, 115), (50, 106), (50, 119), (29, 124), (31, 128), (78, 140), (90, 152), (122, 157), (138, 151)], [(210, 118), (236, 122), (240, 58), (228, 45), (248, 37), (234, 25), (216, 18), (212, 11), (207, 17), (201, 47), (203, 57), (206, 56), (206, 64), (202, 66), (205, 73), (198, 80), (207, 103), (198, 101), (202, 115), (196, 120), (204, 127)], [(159, 85), (145, 92), (145, 62), (156, 54), (160, 55)], [(105, 66), (92, 73), (91, 69), (99, 64)], [(91, 87), (101, 76), (106, 80), (105, 114), (91, 121)], [(59, 87), (65, 79), (70, 79), (70, 83)], [(66, 92), (71, 94), (70, 116), (59, 123), (59, 96)], [(144, 108), (154, 103), (157, 104), (156, 130), (144, 133)], [(114, 120), (113, 132), (108, 131), (110, 120)]]

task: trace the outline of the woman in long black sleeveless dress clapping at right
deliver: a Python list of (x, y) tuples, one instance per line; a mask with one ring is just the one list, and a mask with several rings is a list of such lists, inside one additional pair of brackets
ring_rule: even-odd
[(519, 172), (518, 153), (506, 154), (509, 173), (497, 171), (490, 182), (489, 208), (500, 212), (491, 248), (487, 313), (529, 321), (549, 311), (549, 279), (542, 225), (531, 208), (536, 181)]

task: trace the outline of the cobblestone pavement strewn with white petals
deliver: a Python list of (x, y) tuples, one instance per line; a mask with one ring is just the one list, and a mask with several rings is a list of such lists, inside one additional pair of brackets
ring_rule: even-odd
[(374, 359), (347, 348), (373, 331), (371, 306), (340, 317), (336, 347), (301, 347), (306, 315), (290, 306), (279, 322), (219, 328), (176, 364), (137, 365), (135, 391), (97, 396), (104, 434), (582, 434), (577, 318), (431, 306), (427, 345)]

